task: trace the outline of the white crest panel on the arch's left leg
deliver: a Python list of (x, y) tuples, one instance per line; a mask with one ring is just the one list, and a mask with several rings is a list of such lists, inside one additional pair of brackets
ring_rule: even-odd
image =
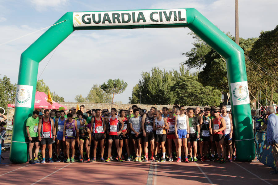
[(17, 85), (15, 95), (15, 107), (31, 108), (32, 103), (32, 85)]

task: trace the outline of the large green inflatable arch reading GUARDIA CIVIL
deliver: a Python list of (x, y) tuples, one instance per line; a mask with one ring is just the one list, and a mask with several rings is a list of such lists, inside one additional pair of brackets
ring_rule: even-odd
[(237, 157), (240, 161), (251, 161), (255, 158), (244, 52), (196, 9), (67, 12), (56, 23), (21, 54), (11, 162), (24, 163), (28, 160), (25, 126), (26, 119), (34, 109), (38, 66), (65, 38), (75, 30), (162, 27), (188, 27), (225, 58), (232, 97)]

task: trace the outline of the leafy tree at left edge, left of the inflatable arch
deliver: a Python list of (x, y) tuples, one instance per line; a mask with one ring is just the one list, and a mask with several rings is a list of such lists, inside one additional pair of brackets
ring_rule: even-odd
[(10, 78), (4, 75), (3, 79), (0, 78), (0, 89), (0, 107), (7, 110), (8, 104), (15, 103), (16, 84), (12, 84)]

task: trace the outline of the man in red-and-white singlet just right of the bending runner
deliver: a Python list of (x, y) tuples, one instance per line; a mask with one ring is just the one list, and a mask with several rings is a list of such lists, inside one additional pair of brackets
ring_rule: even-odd
[[(100, 161), (104, 162), (103, 153), (104, 153), (104, 139), (105, 139), (105, 118), (101, 117), (101, 109), (95, 110), (95, 117), (91, 119), (91, 131), (93, 133), (94, 138), (94, 152), (93, 152), (93, 160), (92, 162), (96, 162), (96, 149), (98, 147), (98, 143), (100, 145)], [(107, 115), (106, 115), (107, 116)]]

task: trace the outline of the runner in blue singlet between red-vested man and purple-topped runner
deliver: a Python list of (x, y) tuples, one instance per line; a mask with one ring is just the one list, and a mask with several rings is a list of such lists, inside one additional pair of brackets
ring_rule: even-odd
[(56, 162), (60, 162), (61, 161), (61, 145), (63, 144), (63, 149), (64, 149), (64, 156), (66, 155), (65, 152), (65, 142), (63, 142), (63, 132), (64, 132), (64, 125), (65, 125), (65, 111), (61, 110), (60, 111), (60, 117), (56, 118), (55, 120), (55, 128), (57, 130), (57, 140), (56, 140), (56, 144), (57, 144), (57, 150), (56, 150), (56, 155), (57, 155), (57, 161)]

